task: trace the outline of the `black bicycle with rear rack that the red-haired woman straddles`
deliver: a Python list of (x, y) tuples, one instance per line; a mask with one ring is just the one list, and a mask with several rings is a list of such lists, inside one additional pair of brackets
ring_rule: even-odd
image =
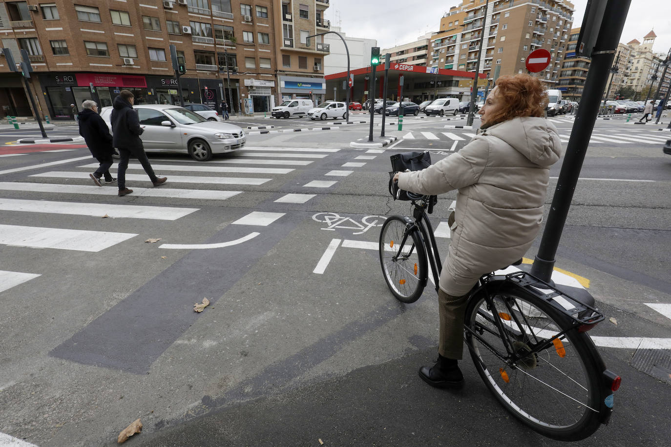
[[(413, 218), (389, 216), (379, 242), (384, 279), (403, 303), (419, 299), (429, 266), (437, 291), (442, 269), (427, 217), (437, 200), (408, 196)], [(482, 275), (470, 291), (464, 340), (486, 387), (508, 411), (544, 436), (575, 441), (609, 422), (620, 385), (586, 334), (604, 318), (525, 271), (502, 269)]]

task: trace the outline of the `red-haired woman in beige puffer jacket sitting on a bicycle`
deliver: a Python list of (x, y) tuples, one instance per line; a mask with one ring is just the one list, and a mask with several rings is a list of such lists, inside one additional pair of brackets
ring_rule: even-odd
[(480, 131), (460, 151), (416, 172), (397, 173), (418, 194), (458, 190), (452, 241), (440, 275), (438, 361), (419, 376), (433, 387), (462, 385), (464, 311), (484, 273), (518, 261), (537, 236), (562, 143), (544, 117), (548, 97), (537, 78), (501, 76), (480, 109)]

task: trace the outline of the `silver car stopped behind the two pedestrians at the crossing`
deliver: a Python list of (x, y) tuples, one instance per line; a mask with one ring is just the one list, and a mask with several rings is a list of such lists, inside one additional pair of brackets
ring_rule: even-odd
[[(242, 128), (207, 119), (174, 105), (136, 105), (140, 139), (144, 149), (188, 153), (197, 162), (207, 162), (215, 153), (226, 153), (244, 147), (246, 136)], [(103, 107), (100, 116), (110, 131), (112, 107)]]

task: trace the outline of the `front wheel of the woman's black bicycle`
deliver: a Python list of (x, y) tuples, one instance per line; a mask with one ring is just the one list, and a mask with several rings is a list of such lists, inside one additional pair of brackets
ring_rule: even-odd
[[(401, 216), (389, 216), (380, 230), (380, 265), (389, 290), (397, 300), (413, 303), (426, 286), (427, 259), (424, 243), (417, 229), (411, 230), (405, 245), (399, 247), (407, 233), (407, 222)], [(403, 256), (397, 257), (397, 253)]]

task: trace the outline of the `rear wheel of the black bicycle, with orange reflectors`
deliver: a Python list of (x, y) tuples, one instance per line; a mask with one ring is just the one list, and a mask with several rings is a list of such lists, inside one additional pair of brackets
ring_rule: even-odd
[[(568, 332), (558, 338), (557, 344), (552, 342), (512, 366), (491, 349), (509, 358), (486, 294), (491, 295), (497, 318), (517, 352), (531, 353), (529, 344), (533, 341)], [(510, 308), (505, 307), (506, 301)], [(599, 353), (586, 334), (570, 329), (562, 312), (531, 292), (492, 281), (470, 299), (464, 324), (480, 332), (491, 345), (486, 346), (466, 330), (466, 344), (482, 381), (517, 419), (544, 436), (562, 441), (582, 440), (599, 428), (599, 409), (605, 397), (599, 380)]]

